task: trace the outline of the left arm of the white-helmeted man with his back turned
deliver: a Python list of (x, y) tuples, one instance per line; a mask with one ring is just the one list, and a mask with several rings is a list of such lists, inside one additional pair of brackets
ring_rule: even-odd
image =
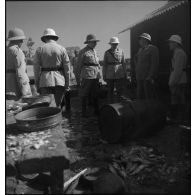
[(37, 89), (39, 89), (39, 80), (40, 80), (40, 73), (41, 73), (41, 48), (38, 48), (35, 57), (34, 57), (34, 76), (35, 76), (35, 86)]

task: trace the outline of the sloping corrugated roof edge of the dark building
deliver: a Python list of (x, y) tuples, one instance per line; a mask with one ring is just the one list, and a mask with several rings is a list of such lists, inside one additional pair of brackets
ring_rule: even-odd
[(134, 27), (134, 26), (136, 26), (136, 25), (138, 25), (138, 24), (140, 24), (140, 23), (142, 23), (142, 22), (144, 22), (146, 20), (150, 20), (150, 19), (152, 19), (152, 18), (154, 18), (156, 16), (159, 16), (159, 15), (165, 13), (165, 12), (168, 12), (168, 11), (170, 11), (170, 10), (180, 6), (181, 4), (187, 3), (187, 2), (189, 2), (189, 1), (188, 0), (184, 0), (184, 1), (169, 1), (164, 6), (160, 7), (159, 9), (157, 9), (157, 10), (155, 10), (153, 12), (151, 12), (150, 14), (146, 15), (140, 21), (138, 21), (138, 22), (132, 24), (131, 26), (129, 26), (128, 28), (122, 30), (121, 32), (119, 32), (119, 34), (125, 32), (125, 31), (127, 31), (129, 29), (131, 29), (132, 27)]

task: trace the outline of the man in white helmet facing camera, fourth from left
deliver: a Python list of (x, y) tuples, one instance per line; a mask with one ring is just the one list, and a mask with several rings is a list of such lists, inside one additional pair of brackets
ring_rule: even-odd
[(104, 54), (103, 78), (109, 87), (108, 97), (110, 101), (113, 98), (115, 85), (117, 96), (120, 97), (122, 95), (126, 78), (124, 52), (118, 48), (119, 43), (117, 37), (112, 37), (109, 42), (111, 48)]

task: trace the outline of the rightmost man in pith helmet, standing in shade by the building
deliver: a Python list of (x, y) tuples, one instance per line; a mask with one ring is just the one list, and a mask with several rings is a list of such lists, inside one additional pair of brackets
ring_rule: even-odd
[(179, 35), (172, 35), (169, 40), (169, 49), (173, 51), (169, 88), (171, 91), (171, 117), (181, 122), (185, 115), (185, 90), (187, 84), (187, 55), (182, 48), (182, 39)]

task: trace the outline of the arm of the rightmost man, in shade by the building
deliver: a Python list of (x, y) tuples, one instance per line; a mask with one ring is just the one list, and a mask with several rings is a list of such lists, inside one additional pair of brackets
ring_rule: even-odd
[(174, 71), (171, 73), (171, 77), (169, 80), (169, 85), (173, 86), (176, 85), (183, 73), (183, 67), (185, 63), (185, 57), (181, 53), (177, 53), (175, 56), (174, 62)]

